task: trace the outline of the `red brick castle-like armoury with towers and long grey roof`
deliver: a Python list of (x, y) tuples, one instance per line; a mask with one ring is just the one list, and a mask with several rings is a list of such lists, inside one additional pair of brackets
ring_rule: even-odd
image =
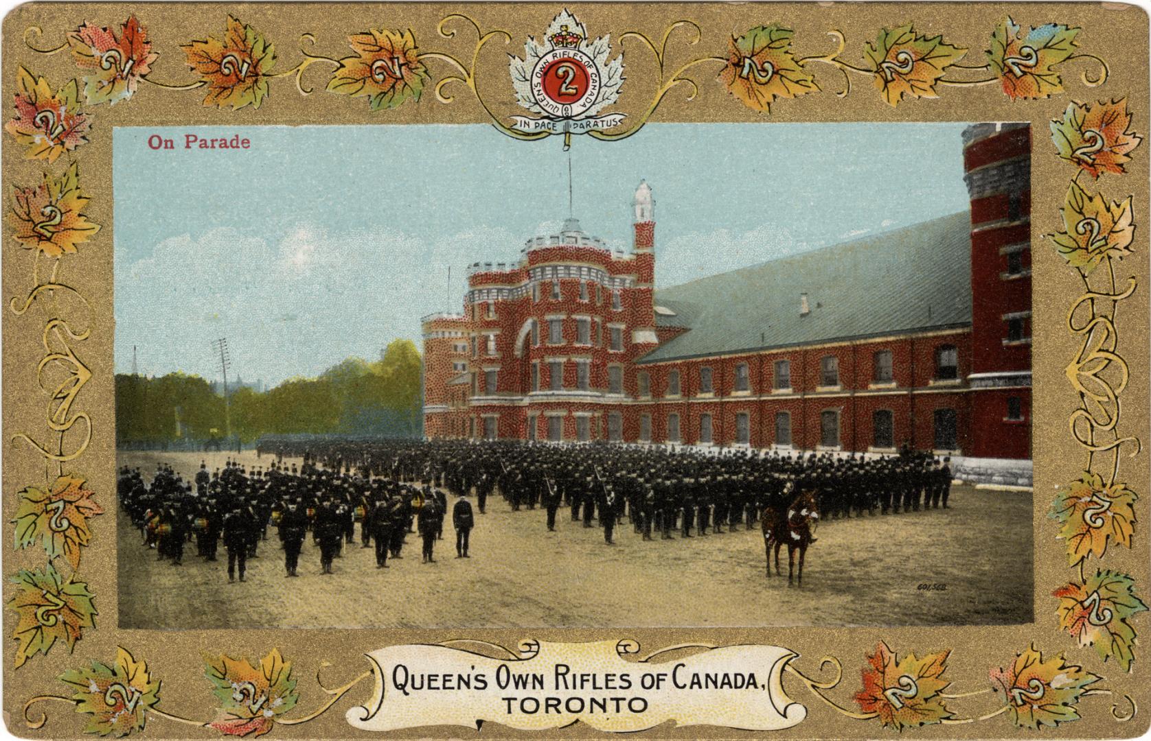
[(1030, 482), (1030, 132), (963, 132), (961, 212), (658, 291), (574, 219), (422, 320), (428, 437), (947, 452)]

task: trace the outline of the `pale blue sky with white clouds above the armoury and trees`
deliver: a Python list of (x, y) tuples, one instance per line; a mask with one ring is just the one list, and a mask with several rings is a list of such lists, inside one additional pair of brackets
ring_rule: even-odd
[[(656, 199), (656, 282), (674, 285), (967, 208), (963, 124), (649, 124), (576, 137), (574, 215), (631, 244)], [(241, 151), (183, 136), (247, 137)], [(170, 137), (174, 151), (147, 146)], [(115, 366), (245, 381), (313, 376), (458, 311), (465, 268), (514, 261), (567, 216), (559, 137), (487, 125), (117, 128)], [(448, 267), (451, 266), (451, 283)], [(231, 376), (229, 376), (231, 377)]]

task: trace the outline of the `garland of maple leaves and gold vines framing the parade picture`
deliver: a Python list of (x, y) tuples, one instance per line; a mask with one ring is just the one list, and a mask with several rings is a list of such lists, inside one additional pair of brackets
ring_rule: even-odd
[[(159, 22), (165, 14), (160, 5), (134, 7), (148, 23)], [(251, 112), (268, 105), (270, 84), (276, 78), (290, 77), (299, 96), (311, 96), (318, 83), (311, 82), (314, 72), (305, 83), (305, 72), (315, 67), (329, 70), (328, 92), (367, 98), (371, 110), (384, 117), (388, 112), (424, 105), (421, 96), (427, 86), (432, 87), (437, 102), (452, 104), (456, 100), (452, 87), (463, 85), (500, 133), (517, 139), (538, 139), (554, 133), (526, 133), (509, 127), (505, 116), (496, 113), (497, 107), (505, 105), (510, 85), (498, 75), (490, 81), (486, 78), (490, 72), (481, 66), (481, 54), (489, 44), (502, 41), (508, 46), (523, 39), (504, 29), (485, 30), (468, 14), (444, 13), (435, 28), (437, 40), (448, 43), (449, 47), (460, 46), (462, 30), (474, 35), (470, 55), (421, 51), (410, 29), (399, 30), (394, 24), (392, 29), (369, 28), (352, 32), (348, 36), (351, 56), (327, 56), (305, 51), (305, 46), (314, 48), (319, 38), (318, 32), (307, 31), (298, 36), (300, 61), (288, 70), (274, 71), (277, 62), (274, 45), (256, 26), (239, 20), (252, 13), (251, 7), (235, 14), (212, 7), (221, 22), (214, 25), (205, 22), (200, 38), (181, 44), (180, 51), (170, 46), (153, 47), (147, 25), (136, 15), (119, 25), (102, 26), (78, 20), (94, 13), (101, 22), (108, 22), (116, 14), (106, 6), (58, 8), (67, 9), (59, 13), (61, 17), (71, 13), (77, 18), (76, 25), (47, 31), (39, 25), (28, 25), (23, 31), (25, 47), (6, 56), (5, 68), (6, 77), (15, 77), (16, 85), (16, 114), (5, 125), (10, 137), (8, 144), (21, 147), (26, 159), (43, 163), (41, 177), (15, 185), (9, 197), (5, 231), (10, 238), (5, 261), (9, 270), (29, 276), (31, 288), (12, 296), (8, 311), (18, 319), (17, 327), (35, 326), (40, 336), (43, 351), (36, 360), (33, 375), (48, 400), (44, 418), (35, 425), (45, 426), (49, 433), (48, 437), (41, 437), (26, 431), (33, 427), (32, 420), (28, 420), (16, 423), (16, 430), (6, 435), (9, 451), (14, 446), (25, 446), (45, 465), (43, 487), (29, 484), (20, 489), (18, 509), (12, 520), (16, 526), (16, 548), (43, 548), (46, 556), (38, 565), (17, 570), (10, 579), (14, 588), (9, 590), (8, 606), (17, 616), (16, 620), (7, 622), (9, 634), (17, 642), (10, 665), (14, 670), (25, 666), (38, 655), (46, 659), (59, 642), (74, 651), (77, 642), (97, 629), (98, 597), (78, 578), (78, 571), (84, 549), (94, 533), (101, 532), (101, 524), (90, 524), (89, 519), (99, 515), (102, 506), (93, 498), (96, 495), (87, 488), (85, 478), (74, 471), (87, 453), (97, 431), (90, 413), (77, 403), (93, 377), (91, 366), (82, 358), (86, 357), (84, 343), (93, 337), (94, 328), (89, 297), (78, 283), (66, 278), (64, 267), (73, 255), (89, 249), (85, 243), (101, 228), (86, 213), (90, 197), (82, 189), (78, 162), (90, 137), (96, 136), (92, 127), (98, 106), (105, 102), (131, 105), (144, 83), (163, 91), (200, 90), (205, 93), (201, 100), (205, 107)], [(542, 5), (517, 8), (540, 18), (558, 9), (558, 6)], [(893, 10), (889, 14), (893, 17), (904, 15), (901, 7), (889, 9)], [(765, 15), (776, 15), (767, 10)], [(1034, 12), (1034, 8), (1027, 10)], [(399, 15), (392, 14), (391, 18)], [(1121, 353), (1119, 322), (1120, 304), (1138, 295), (1138, 277), (1123, 276), (1121, 270), (1116, 275), (1119, 261), (1136, 252), (1136, 208), (1131, 194), (1120, 194), (1113, 200), (1114, 191), (1122, 193), (1122, 188), (1112, 184), (1105, 193), (1098, 183), (1104, 175), (1106, 183), (1125, 175), (1126, 165), (1142, 140), (1130, 130), (1133, 113), (1145, 122), (1148, 110), (1145, 106), (1130, 110), (1123, 91), (1108, 91), (1112, 97), (1105, 100), (1073, 101), (1061, 114), (1051, 105), (1053, 98), (1065, 93), (1066, 64), (1078, 60), (1095, 64), (1080, 72), (1080, 82), (1085, 87), (1103, 86), (1111, 77), (1111, 68), (1103, 55), (1080, 51), (1077, 37), (1083, 28), (1065, 23), (1024, 28), (1005, 13), (1005, 17), (989, 30), (990, 49), (984, 53), (985, 61), (969, 64), (960, 62), (977, 53), (948, 44), (940, 35), (921, 33), (914, 23), (893, 23), (875, 31), (875, 40), (861, 45), (862, 62), (845, 56), (848, 33), (836, 26), (828, 26), (825, 32), (836, 40), (837, 48), (807, 56), (796, 55), (793, 49), (795, 32), (780, 23), (748, 26), (741, 36), (723, 39), (706, 33), (703, 24), (681, 18), (669, 23), (657, 35), (658, 43), (656, 35), (628, 30), (616, 37), (620, 53), (626, 52), (631, 59), (635, 51), (645, 49), (654, 58), (654, 96), (619, 131), (592, 130), (588, 133), (601, 142), (635, 135), (654, 119), (677, 87), (686, 90), (688, 101), (696, 99), (702, 84), (696, 74), (711, 71), (709, 66), (717, 72), (718, 84), (731, 93), (729, 100), (734, 99), (764, 115), (771, 113), (772, 102), (823, 91), (822, 76), (811, 71), (817, 66), (833, 67), (841, 75), (841, 90), (834, 93), (837, 99), (851, 94), (853, 76), (859, 76), (869, 77), (892, 109), (917, 99), (930, 105), (928, 99), (939, 98), (946, 87), (962, 91), (999, 85), (1005, 100), (1023, 106), (1012, 110), (1034, 116), (1036, 114), (1026, 108), (1031, 106), (1047, 112), (1039, 113), (1041, 116), (1055, 113), (1051, 122), (1055, 153), (1076, 171), (1068, 181), (1061, 208), (1065, 228), (1047, 238), (1078, 273), (1083, 284), (1066, 315), (1066, 329), (1080, 344), (1066, 367), (1066, 375), (1078, 402), (1067, 428), (1074, 443), (1087, 453), (1087, 460), (1078, 479), (1059, 489), (1050, 509), (1050, 517), (1060, 525), (1054, 537), (1066, 541), (1068, 564), (1074, 572), (1072, 581), (1051, 594), (1058, 598), (1059, 628), (1074, 639), (1073, 648), (1093, 645), (1102, 662), (1112, 660), (1125, 672), (1131, 672), (1138, 658), (1133, 620), (1141, 619), (1138, 613), (1146, 611), (1146, 605), (1131, 575), (1104, 568), (1103, 563), (1111, 560), (1112, 547), (1133, 548), (1139, 506), (1136, 489), (1146, 483), (1145, 466), (1142, 476), (1120, 475), (1123, 461), (1136, 458), (1142, 451), (1138, 430), (1123, 423), (1121, 397), (1131, 384), (1133, 373), (1144, 372), (1145, 375), (1145, 367), (1133, 365)], [(1099, 30), (1106, 33), (1106, 29)], [(51, 41), (49, 46), (38, 45), (53, 37), (63, 40), (55, 46), (51, 46)], [(670, 59), (676, 56), (678, 60), (683, 51), (673, 47), (669, 52), (672, 43), (693, 53), (695, 47), (709, 51), (671, 63)], [(62, 52), (71, 54), (81, 75), (54, 87), (35, 70), (40, 60)], [(152, 68), (169, 54), (183, 54), (186, 68), (196, 78), (157, 79)], [(1145, 82), (1144, 77), (1123, 84), (1145, 86)], [(627, 109), (634, 105), (633, 96), (625, 94), (619, 105)], [(180, 108), (173, 110), (183, 113)], [(1017, 119), (1017, 115), (1009, 117)], [(173, 117), (169, 122), (181, 120)], [(1035, 146), (1049, 146), (1038, 139), (1037, 131), (1032, 133), (1036, 135)], [(564, 132), (564, 144), (570, 146), (570, 132)], [(96, 197), (109, 199), (110, 193), (101, 192)], [(1138, 213), (1144, 209), (1145, 205), (1138, 205)], [(24, 251), (20, 262), (13, 257), (16, 250)], [(30, 257), (28, 251), (32, 253)], [(6, 288), (14, 283), (6, 283)], [(38, 314), (32, 313), (33, 307)], [(1130, 312), (1125, 316), (1128, 314), (1133, 316), (1128, 321), (1138, 319), (1145, 326), (1145, 313)], [(33, 319), (36, 315), (40, 319)], [(9, 334), (9, 344), (12, 342)], [(9, 392), (14, 388), (13, 383), (7, 387)], [(110, 426), (104, 434), (112, 434)], [(92, 466), (106, 461), (85, 463)], [(10, 494), (6, 496), (12, 497)], [(101, 492), (99, 496), (107, 495)], [(1093, 574), (1088, 570), (1091, 558), (1100, 564)], [(64, 568), (64, 573), (58, 567)], [(1049, 635), (1036, 636), (1036, 642), (1050, 640)], [(811, 679), (791, 665), (787, 671), (841, 716), (860, 720), (877, 718), (897, 731), (933, 724), (971, 724), (1000, 715), (1006, 715), (1021, 728), (1053, 727), (1080, 717), (1077, 703), (1081, 698), (1100, 694), (1123, 698), (1122, 703), (1111, 706), (1114, 718), (1128, 720), (1137, 713), (1131, 694), (1096, 687), (1104, 678), (1069, 663), (1061, 652), (1053, 658), (1049, 655), (1044, 660), (1035, 642), (1020, 650), (1013, 662), (990, 669), (991, 689), (947, 694), (950, 681), (943, 674), (950, 655), (951, 649), (945, 649), (920, 658), (910, 654), (900, 658), (879, 641), (862, 670), (863, 690), (852, 698), (859, 710), (826, 694), (843, 679), (837, 657), (829, 656), (820, 663), (820, 670), (833, 667), (830, 680)], [(346, 685), (329, 689), (317, 673), (317, 686), (328, 698), (310, 713), (285, 718), (281, 716), (289, 715), (298, 697), (291, 671), (291, 664), (280, 656), (279, 649), (272, 649), (257, 664), (233, 659), (227, 654), (207, 658), (205, 673), (215, 688), (219, 708), (214, 720), (199, 721), (160, 710), (157, 706), (161, 700), (160, 680), (152, 679), (146, 662), (119, 648), (115, 660), (109, 664), (92, 660), (60, 674), (60, 681), (70, 687), (70, 695), (41, 694), (23, 701), (23, 719), (29, 729), (43, 727), (47, 716), (43, 712), (31, 715), (32, 708), (39, 702), (55, 700), (73, 703), (77, 712), (90, 716), (85, 731), (101, 735), (143, 732), (148, 715), (212, 727), (224, 734), (260, 735), (276, 724), (299, 724), (320, 717), (368, 675), (361, 674)], [(251, 683), (251, 692), (237, 696), (235, 687), (244, 682)], [(959, 717), (947, 706), (955, 700), (991, 693), (999, 700), (986, 711)], [(269, 701), (277, 698), (279, 703), (275, 709), (265, 705), (253, 709), (251, 701), (257, 695)]]

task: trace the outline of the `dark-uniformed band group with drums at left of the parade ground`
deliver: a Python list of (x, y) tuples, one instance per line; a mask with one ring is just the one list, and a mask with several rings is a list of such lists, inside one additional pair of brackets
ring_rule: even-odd
[[(195, 484), (195, 486), (193, 486)], [(443, 537), (447, 496), (429, 484), (417, 486), (350, 469), (326, 469), (273, 463), (251, 471), (228, 460), (211, 474), (205, 464), (193, 481), (184, 481), (160, 464), (150, 483), (138, 469), (121, 468), (121, 505), (140, 530), (143, 544), (158, 560), (183, 563), (193, 540), (197, 555), (218, 560), (222, 544), (228, 556), (228, 580), (245, 580), (247, 562), (259, 557), (269, 528), (279, 535), (285, 576), (297, 576), (304, 542), (311, 536), (320, 553), (321, 573), (333, 573), (335, 559), (356, 542), (375, 548), (378, 568), (388, 558), (403, 558), (406, 535), (418, 528), (424, 538), (424, 563), (434, 562), (434, 542)], [(466, 527), (457, 522), (457, 529)], [(460, 557), (466, 555), (464, 537)]]

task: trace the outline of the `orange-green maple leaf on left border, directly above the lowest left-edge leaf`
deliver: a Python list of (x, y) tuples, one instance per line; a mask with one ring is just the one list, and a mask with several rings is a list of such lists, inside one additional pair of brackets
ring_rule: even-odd
[(79, 566), (81, 549), (92, 533), (87, 519), (104, 513), (92, 501), (94, 492), (84, 488), (83, 479), (60, 476), (48, 491), (28, 487), (20, 492), (16, 509), (16, 548), (28, 548), (41, 541), (48, 558), (63, 556), (73, 568)]

